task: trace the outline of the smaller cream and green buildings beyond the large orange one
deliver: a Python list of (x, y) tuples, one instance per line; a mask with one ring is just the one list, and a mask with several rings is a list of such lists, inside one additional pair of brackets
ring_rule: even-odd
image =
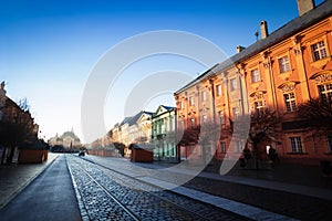
[(131, 156), (131, 145), (153, 149), (155, 160), (177, 161), (176, 108), (159, 105), (156, 112), (139, 112), (125, 117), (120, 124), (96, 141), (93, 147), (108, 147), (111, 144), (124, 145), (124, 155)]

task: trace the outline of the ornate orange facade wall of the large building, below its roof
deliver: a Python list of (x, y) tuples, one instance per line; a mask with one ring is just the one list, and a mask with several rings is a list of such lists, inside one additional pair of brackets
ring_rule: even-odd
[[(230, 144), (229, 129), (236, 115), (268, 108), (277, 112), (280, 119), (277, 129), (280, 133), (276, 137), (277, 140), (264, 143), (264, 146), (276, 147), (279, 156), (289, 160), (331, 159), (331, 144), (329, 146), (328, 141), (331, 143), (332, 136), (328, 138), (326, 135), (318, 135), (305, 126), (301, 127), (300, 124), (291, 129), (284, 126), (289, 122), (301, 120), (297, 115), (297, 107), (310, 98), (319, 97), (319, 85), (330, 90), (329, 96), (332, 96), (331, 22), (332, 17), (222, 70), (215, 69), (217, 72), (214, 75), (205, 73), (205, 76), (200, 76), (196, 83), (175, 93), (179, 131), (190, 130), (191, 125), (197, 126), (205, 118), (219, 120), (221, 136), (216, 156), (222, 159), (227, 150), (231, 150), (230, 152), (235, 152), (236, 156), (236, 152), (240, 154), (246, 145), (243, 140), (238, 140), (241, 144)], [(313, 45), (319, 42), (320, 45), (324, 45), (325, 57), (315, 61)], [(219, 84), (221, 95), (218, 94)], [(235, 84), (236, 90), (232, 88)], [(203, 92), (207, 93), (205, 101), (201, 97)], [(292, 148), (294, 139), (300, 140), (300, 149)], [(181, 157), (199, 158), (203, 151), (201, 147), (197, 146), (197, 141), (179, 143)], [(230, 147), (234, 149), (229, 149)]]

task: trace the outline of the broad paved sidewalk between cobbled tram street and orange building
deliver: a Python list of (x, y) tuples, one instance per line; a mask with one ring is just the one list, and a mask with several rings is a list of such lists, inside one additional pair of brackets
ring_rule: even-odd
[(332, 189), (329, 188), (199, 173), (195, 168), (133, 164), (124, 158), (86, 156), (85, 159), (253, 220), (332, 219)]

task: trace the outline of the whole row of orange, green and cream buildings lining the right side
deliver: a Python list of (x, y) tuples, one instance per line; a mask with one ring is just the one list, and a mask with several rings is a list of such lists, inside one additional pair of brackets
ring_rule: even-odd
[(209, 148), (199, 144), (199, 127), (211, 122), (220, 124), (218, 140), (209, 144), (216, 158), (238, 158), (253, 146), (235, 139), (236, 120), (268, 110), (278, 124), (274, 136), (255, 144), (261, 152), (272, 147), (283, 159), (331, 160), (332, 131), (315, 133), (298, 106), (317, 97), (332, 101), (332, 1), (315, 7), (313, 0), (298, 0), (298, 7), (300, 17), (272, 33), (261, 21), (260, 40), (238, 45), (237, 54), (175, 92), (176, 108), (162, 105), (155, 114), (125, 118), (103, 145), (155, 144), (158, 159), (199, 158)]

